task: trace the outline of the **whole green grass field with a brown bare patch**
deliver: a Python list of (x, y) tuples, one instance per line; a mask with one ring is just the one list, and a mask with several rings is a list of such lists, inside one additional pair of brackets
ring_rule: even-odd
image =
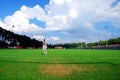
[(120, 80), (120, 50), (0, 49), (0, 80)]

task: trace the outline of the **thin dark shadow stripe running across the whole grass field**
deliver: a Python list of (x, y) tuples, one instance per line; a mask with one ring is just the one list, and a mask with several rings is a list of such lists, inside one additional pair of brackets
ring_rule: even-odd
[(53, 61), (32, 62), (32, 61), (7, 61), (7, 60), (0, 60), (0, 62), (40, 63), (40, 64), (110, 64), (114, 66), (120, 66), (120, 64), (116, 64), (112, 62), (53, 62)]

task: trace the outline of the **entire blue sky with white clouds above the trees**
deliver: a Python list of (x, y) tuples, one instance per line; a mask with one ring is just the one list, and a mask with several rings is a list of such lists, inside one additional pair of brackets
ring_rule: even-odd
[(120, 0), (2, 0), (0, 26), (52, 44), (107, 40), (120, 37)]

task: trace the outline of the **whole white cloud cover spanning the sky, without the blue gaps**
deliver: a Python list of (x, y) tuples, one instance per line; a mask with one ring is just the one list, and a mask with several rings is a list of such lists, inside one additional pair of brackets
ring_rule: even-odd
[[(34, 38), (42, 38), (44, 32), (61, 31), (68, 40), (65, 41), (97, 41), (105, 39), (107, 32), (95, 29), (97, 22), (110, 22), (120, 29), (120, 2), (114, 7), (116, 0), (50, 0), (45, 9), (36, 5), (28, 7), (23, 5), (20, 10), (11, 16), (6, 16), (0, 25), (16, 33), (27, 34)], [(31, 19), (44, 22), (45, 27), (30, 23)], [(15, 26), (14, 29), (11, 26)], [(40, 34), (41, 36), (35, 36)], [(111, 33), (112, 34), (112, 33)], [(99, 35), (99, 36), (98, 36)], [(49, 36), (51, 41), (61, 41), (59, 37)], [(118, 35), (119, 36), (119, 35)], [(73, 40), (69, 40), (69, 39)]]

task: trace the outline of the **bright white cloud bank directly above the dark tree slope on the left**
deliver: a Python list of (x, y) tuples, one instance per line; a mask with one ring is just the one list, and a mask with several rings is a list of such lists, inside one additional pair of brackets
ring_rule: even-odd
[[(42, 19), (40, 16), (42, 16), (43, 12), (38, 5), (33, 8), (23, 5), (21, 9), (16, 11), (12, 16), (6, 16), (4, 21), (0, 21), (0, 25), (5, 29), (30, 37), (35, 34), (42, 34), (44, 32), (43, 28), (34, 23), (30, 23), (30, 19)], [(12, 26), (14, 26), (14, 28)]]

